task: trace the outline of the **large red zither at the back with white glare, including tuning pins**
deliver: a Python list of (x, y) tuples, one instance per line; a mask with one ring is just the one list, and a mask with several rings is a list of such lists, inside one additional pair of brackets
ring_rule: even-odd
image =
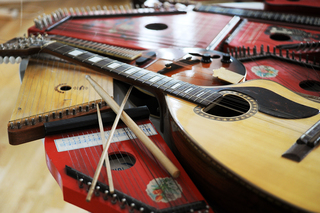
[(54, 14), (59, 18), (45, 15), (36, 20), (28, 33), (46, 32), (132, 49), (207, 48), (232, 20), (224, 15), (151, 8), (116, 12), (57, 11)]

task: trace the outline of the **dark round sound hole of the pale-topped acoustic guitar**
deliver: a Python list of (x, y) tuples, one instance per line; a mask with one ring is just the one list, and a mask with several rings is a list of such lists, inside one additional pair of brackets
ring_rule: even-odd
[(236, 95), (224, 95), (203, 111), (219, 117), (235, 117), (245, 114), (249, 109), (250, 104), (247, 100)]

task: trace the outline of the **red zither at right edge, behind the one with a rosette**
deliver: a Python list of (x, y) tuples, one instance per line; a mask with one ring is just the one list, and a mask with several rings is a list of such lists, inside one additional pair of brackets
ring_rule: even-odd
[[(300, 43), (309, 43), (310, 45), (301, 45)], [(229, 39), (226, 40), (224, 51), (239, 47), (250, 48), (253, 54), (254, 47), (269, 46), (272, 51), (275, 47), (282, 49), (282, 54), (286, 54), (286, 49), (291, 45), (297, 45), (296, 56), (302, 54), (310, 57), (319, 55), (320, 31), (297, 27), (289, 27), (280, 24), (267, 24), (260, 22), (244, 22)], [(315, 43), (314, 45), (311, 45)], [(280, 49), (277, 48), (277, 53)]]

